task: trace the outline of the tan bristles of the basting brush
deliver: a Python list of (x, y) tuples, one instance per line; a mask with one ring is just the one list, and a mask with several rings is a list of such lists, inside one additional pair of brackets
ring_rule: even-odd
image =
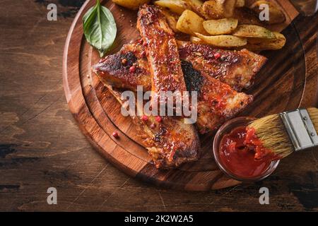
[(272, 114), (252, 121), (248, 127), (254, 128), (257, 137), (262, 141), (264, 147), (279, 157), (286, 157), (290, 153), (293, 153), (293, 143), (290, 141), (279, 114)]

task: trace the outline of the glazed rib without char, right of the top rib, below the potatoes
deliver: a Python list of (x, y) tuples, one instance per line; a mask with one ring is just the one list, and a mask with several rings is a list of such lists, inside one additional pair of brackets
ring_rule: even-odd
[(181, 59), (191, 62), (194, 69), (220, 79), (237, 91), (249, 88), (256, 73), (266, 63), (266, 57), (247, 49), (230, 51), (192, 42), (179, 41), (178, 44)]

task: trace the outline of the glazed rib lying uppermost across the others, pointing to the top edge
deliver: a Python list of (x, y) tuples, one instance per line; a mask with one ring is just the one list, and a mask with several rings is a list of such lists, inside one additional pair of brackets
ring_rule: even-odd
[(160, 91), (187, 91), (179, 59), (175, 33), (156, 6), (139, 8), (137, 29), (145, 45), (151, 75), (151, 100), (157, 102)]

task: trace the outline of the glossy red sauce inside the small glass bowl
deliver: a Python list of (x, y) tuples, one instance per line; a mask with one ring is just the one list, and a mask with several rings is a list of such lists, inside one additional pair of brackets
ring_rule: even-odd
[(237, 177), (261, 176), (278, 157), (266, 149), (254, 129), (233, 129), (220, 141), (220, 161)]

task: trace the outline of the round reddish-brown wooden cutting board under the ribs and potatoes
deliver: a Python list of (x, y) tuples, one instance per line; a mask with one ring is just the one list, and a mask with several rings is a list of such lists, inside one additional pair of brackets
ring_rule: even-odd
[[(317, 76), (308, 73), (302, 40), (292, 23), (300, 16), (289, 1), (277, 2), (288, 19), (272, 29), (283, 30), (288, 41), (279, 51), (261, 53), (269, 57), (269, 61), (257, 75), (253, 87), (247, 90), (254, 95), (254, 103), (242, 115), (261, 117), (317, 103)], [(63, 65), (69, 109), (89, 141), (102, 156), (126, 174), (158, 186), (206, 191), (240, 183), (226, 177), (216, 166), (212, 156), (213, 134), (201, 136), (204, 155), (199, 161), (171, 170), (158, 170), (152, 165), (131, 119), (120, 114), (117, 100), (90, 70), (100, 58), (83, 37), (82, 17), (94, 4), (95, 0), (86, 1), (74, 19), (66, 39)], [(117, 39), (112, 54), (123, 44), (139, 37), (136, 11), (117, 6), (112, 1), (102, 1), (102, 5), (110, 8), (117, 23)], [(317, 21), (312, 26), (317, 28)], [(113, 131), (119, 132), (118, 140), (112, 137)]]

